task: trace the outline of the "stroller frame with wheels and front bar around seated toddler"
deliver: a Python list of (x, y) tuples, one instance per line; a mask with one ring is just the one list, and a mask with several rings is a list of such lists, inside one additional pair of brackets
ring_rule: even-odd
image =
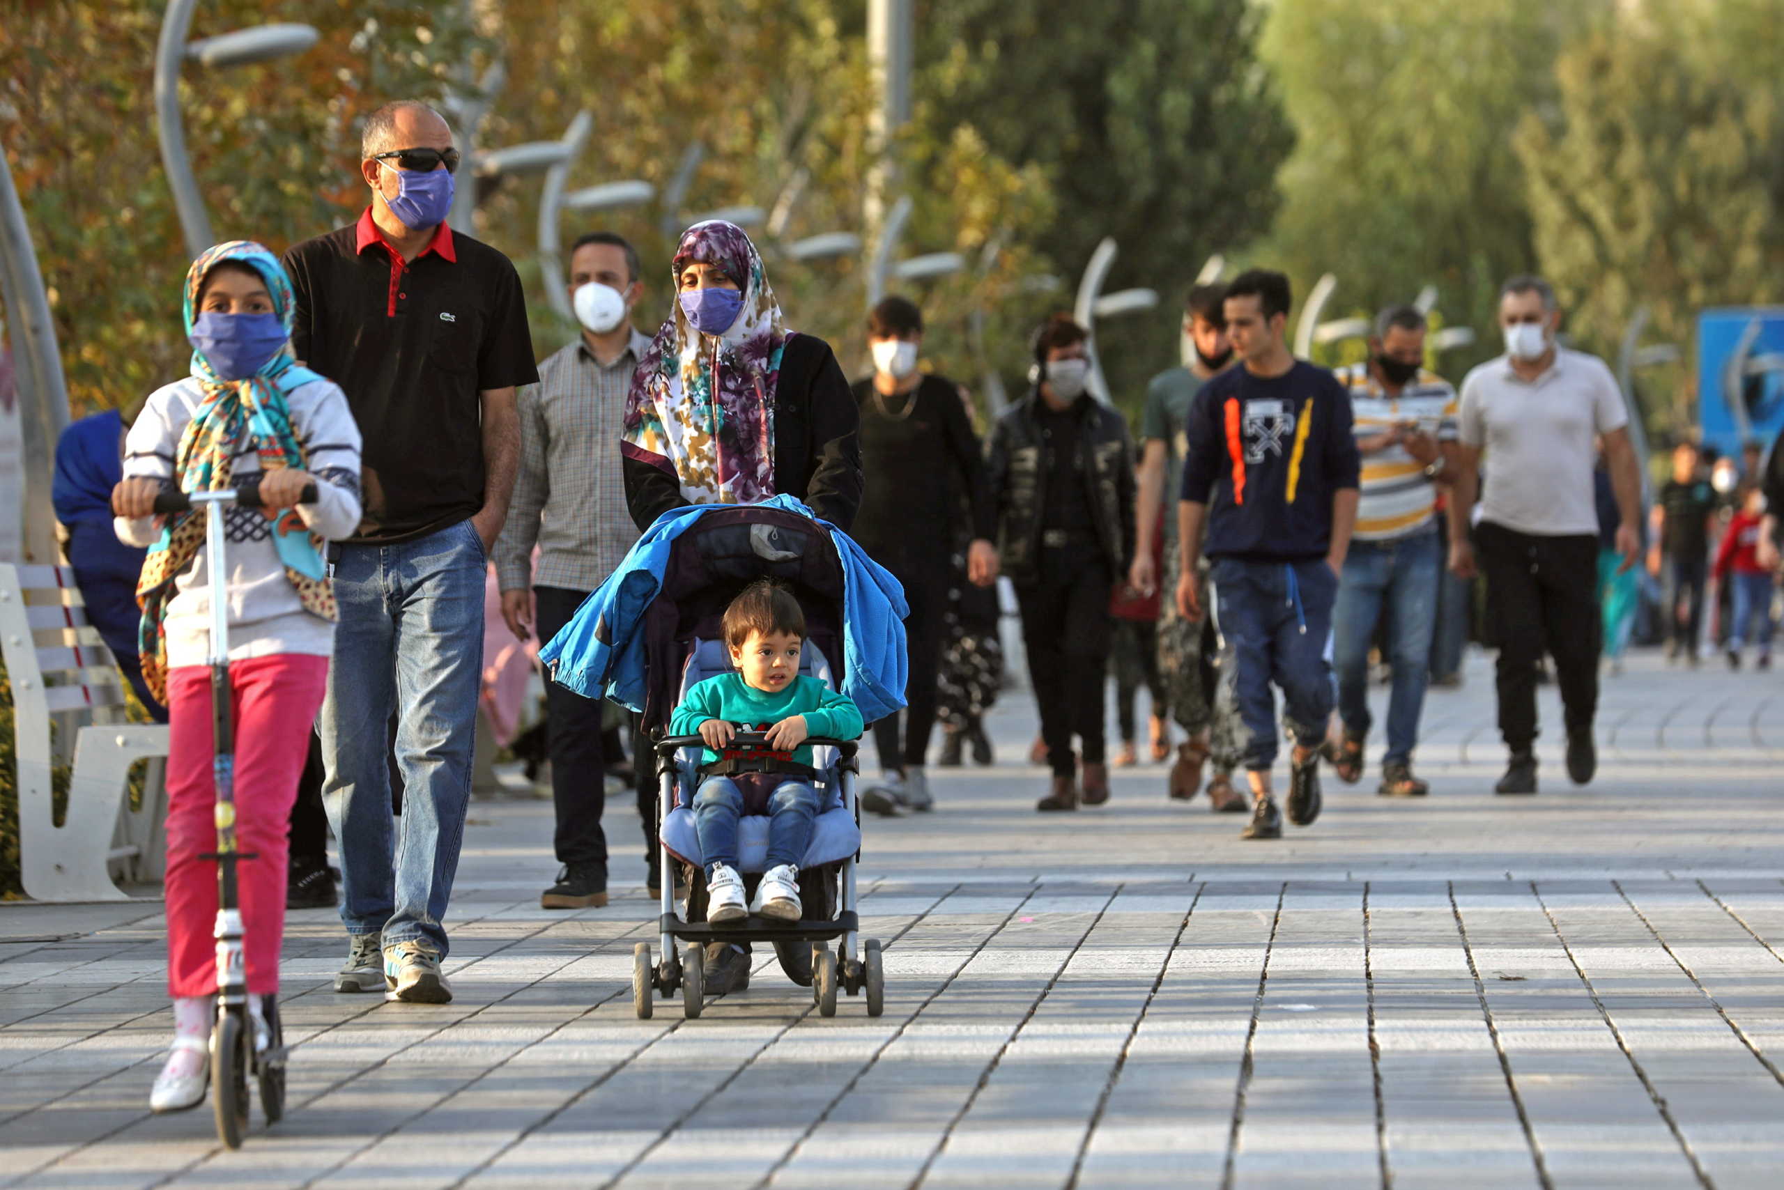
[[(740, 731), (737, 744), (762, 744), (762, 733)], [(837, 749), (837, 771), (840, 774), (842, 805), (860, 824), (862, 810), (855, 797), (855, 778), (858, 773), (856, 740), (837, 740), (828, 737), (810, 737), (805, 740), (817, 748)], [(674, 806), (676, 753), (685, 748), (705, 748), (698, 735), (671, 735), (657, 740), (657, 847), (662, 855), (664, 880), (660, 885), (660, 928), (658, 944), (662, 962), (651, 962), (649, 942), (633, 947), (632, 1001), (640, 1021), (648, 1021), (653, 1012), (651, 992), (664, 999), (681, 992), (683, 1015), (699, 1017), (705, 1006), (705, 947), (714, 942), (808, 942), (812, 944), (812, 999), (819, 1015), (837, 1013), (838, 988), (849, 996), (867, 994), (867, 1015), (878, 1017), (885, 1010), (885, 972), (881, 969), (880, 940), (867, 938), (862, 956), (856, 958), (856, 937), (860, 917), (856, 913), (855, 864), (860, 851), (844, 856), (838, 872), (837, 913), (830, 921), (780, 922), (751, 913), (742, 922), (714, 926), (710, 922), (685, 921), (674, 908), (674, 880), (671, 864), (681, 860), (669, 853), (662, 842), (664, 821)], [(826, 865), (828, 867), (828, 865)], [(703, 876), (696, 869), (696, 880)], [(689, 892), (692, 899), (692, 888)], [(830, 951), (830, 942), (842, 940), (840, 956)], [(687, 944), (678, 947), (676, 942)], [(678, 953), (680, 951), (680, 953)]]

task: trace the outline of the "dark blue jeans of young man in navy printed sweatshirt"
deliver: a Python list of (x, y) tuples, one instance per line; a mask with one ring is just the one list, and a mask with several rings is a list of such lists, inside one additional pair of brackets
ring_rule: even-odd
[(1333, 676), (1326, 664), (1333, 596), (1338, 576), (1324, 558), (1309, 562), (1245, 562), (1213, 566), (1220, 635), (1235, 658), (1238, 714), (1251, 737), (1245, 767), (1268, 773), (1276, 764), (1276, 696), (1283, 687), (1295, 742), (1315, 748), (1333, 714)]

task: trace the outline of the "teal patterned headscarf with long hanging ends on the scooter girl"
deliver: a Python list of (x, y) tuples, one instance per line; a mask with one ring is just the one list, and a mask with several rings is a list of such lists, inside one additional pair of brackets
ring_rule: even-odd
[[(186, 273), (186, 334), (193, 334), (205, 277), (223, 260), (246, 264), (260, 275), (266, 291), (273, 294), (273, 314), (289, 332), (296, 302), (291, 296), (291, 278), (285, 277), (278, 257), (253, 241), (232, 239), (193, 260), (193, 268)], [(193, 351), (193, 378), (203, 389), (203, 401), (193, 412), (193, 421), (180, 435), (175, 451), (173, 482), (182, 492), (232, 487), (230, 467), (243, 441), (253, 444), (260, 471), (305, 466), (303, 446), (291, 428), (285, 393), (321, 376), (298, 364), (289, 343), (246, 380), (219, 378), (203, 351)], [(203, 512), (169, 516), (161, 530), (161, 541), (150, 546), (143, 576), (136, 583), (136, 601), (143, 608), (137, 633), (143, 678), (162, 703), (168, 701), (168, 640), (162, 621), (173, 598), (173, 580), (186, 573), (203, 542)], [(273, 542), (278, 548), (278, 560), (285, 566), (285, 576), (298, 589), (303, 610), (335, 619), (334, 591), (323, 571), (321, 539), (309, 532), (294, 508), (285, 508), (273, 519)]]

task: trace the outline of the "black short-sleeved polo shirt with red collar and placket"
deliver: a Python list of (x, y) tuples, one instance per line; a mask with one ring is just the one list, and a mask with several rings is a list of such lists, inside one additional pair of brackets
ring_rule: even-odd
[(521, 278), (441, 223), (414, 260), (357, 225), (285, 253), (298, 359), (346, 393), (364, 439), (355, 542), (409, 541), (483, 507), (483, 389), (533, 384)]

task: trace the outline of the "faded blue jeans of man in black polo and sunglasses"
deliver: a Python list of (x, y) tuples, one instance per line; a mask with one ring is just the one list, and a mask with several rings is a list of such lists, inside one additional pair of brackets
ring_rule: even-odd
[[(323, 805), (341, 840), (341, 921), (446, 954), (446, 903), (471, 801), (483, 673), (483, 542), (469, 521), (392, 546), (343, 546), (319, 719)], [(391, 814), (391, 715), (403, 814)]]

